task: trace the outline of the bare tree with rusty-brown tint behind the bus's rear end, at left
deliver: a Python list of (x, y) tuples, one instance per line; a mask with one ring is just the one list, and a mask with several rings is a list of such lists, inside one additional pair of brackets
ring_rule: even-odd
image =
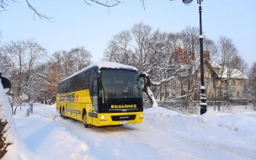
[(43, 104), (55, 102), (57, 84), (75, 72), (74, 56), (68, 51), (56, 51), (51, 58), (35, 68), (38, 76), (34, 78), (35, 98)]

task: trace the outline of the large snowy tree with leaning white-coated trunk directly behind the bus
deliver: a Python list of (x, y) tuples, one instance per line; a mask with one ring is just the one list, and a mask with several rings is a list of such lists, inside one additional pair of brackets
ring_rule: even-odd
[(147, 86), (147, 79), (144, 79), (143, 91), (152, 104), (157, 105), (155, 97), (159, 93), (168, 96), (168, 82), (174, 78), (174, 72), (180, 71), (178, 64), (170, 61), (171, 52), (175, 48), (173, 44), (176, 44), (173, 34), (159, 29), (153, 32), (151, 26), (139, 23), (131, 30), (123, 30), (114, 35), (109, 40), (102, 60), (134, 66), (150, 77), (154, 94)]

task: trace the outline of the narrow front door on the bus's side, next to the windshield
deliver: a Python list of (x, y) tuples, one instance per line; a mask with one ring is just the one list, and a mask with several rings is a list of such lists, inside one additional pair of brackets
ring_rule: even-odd
[(97, 78), (93, 80), (93, 107), (91, 110), (93, 125), (98, 125), (98, 83)]

